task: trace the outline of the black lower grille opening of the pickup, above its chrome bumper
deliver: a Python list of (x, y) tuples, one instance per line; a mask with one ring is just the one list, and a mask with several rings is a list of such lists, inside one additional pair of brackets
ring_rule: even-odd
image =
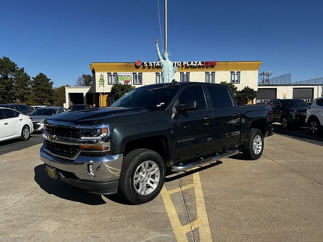
[(80, 146), (53, 143), (48, 140), (45, 140), (45, 149), (55, 155), (63, 156), (66, 158), (73, 158), (76, 155), (76, 153), (80, 150)]

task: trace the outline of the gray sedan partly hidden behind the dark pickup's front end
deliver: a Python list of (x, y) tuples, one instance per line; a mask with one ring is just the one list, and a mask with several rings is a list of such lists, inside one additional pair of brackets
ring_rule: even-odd
[(33, 110), (29, 114), (29, 116), (32, 117), (34, 131), (40, 131), (44, 128), (44, 120), (46, 119), (46, 117), (49, 117), (51, 115), (55, 115), (61, 112), (66, 112), (66, 111), (68, 110), (64, 107), (50, 107), (50, 106), (39, 107)]

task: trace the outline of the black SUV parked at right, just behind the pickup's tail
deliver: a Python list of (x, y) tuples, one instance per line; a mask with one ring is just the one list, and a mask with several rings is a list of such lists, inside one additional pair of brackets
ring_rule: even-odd
[(284, 130), (291, 126), (305, 125), (309, 105), (301, 99), (273, 99), (268, 102), (273, 109), (273, 121), (282, 124)]

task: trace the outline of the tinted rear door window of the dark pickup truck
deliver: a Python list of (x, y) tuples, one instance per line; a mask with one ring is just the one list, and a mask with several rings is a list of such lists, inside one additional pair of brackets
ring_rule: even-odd
[(207, 86), (210, 93), (213, 108), (232, 107), (232, 100), (228, 89), (225, 87)]

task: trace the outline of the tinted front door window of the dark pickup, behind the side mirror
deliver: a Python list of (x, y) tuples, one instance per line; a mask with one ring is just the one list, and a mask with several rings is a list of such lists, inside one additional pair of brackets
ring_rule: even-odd
[(198, 103), (198, 110), (206, 109), (204, 92), (201, 86), (192, 86), (192, 87), (186, 88), (182, 92), (178, 100), (180, 103), (186, 100), (195, 100)]

